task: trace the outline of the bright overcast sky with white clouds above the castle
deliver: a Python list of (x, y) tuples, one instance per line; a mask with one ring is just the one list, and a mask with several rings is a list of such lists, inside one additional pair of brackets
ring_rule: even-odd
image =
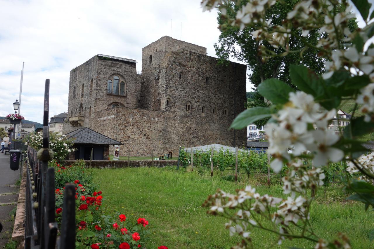
[(67, 111), (70, 70), (94, 55), (135, 59), (141, 71), (142, 47), (171, 35), (215, 56), (217, 26), (200, 0), (0, 0), (0, 116), (19, 99), (23, 61), (21, 115), (42, 123), (45, 79), (52, 117)]

